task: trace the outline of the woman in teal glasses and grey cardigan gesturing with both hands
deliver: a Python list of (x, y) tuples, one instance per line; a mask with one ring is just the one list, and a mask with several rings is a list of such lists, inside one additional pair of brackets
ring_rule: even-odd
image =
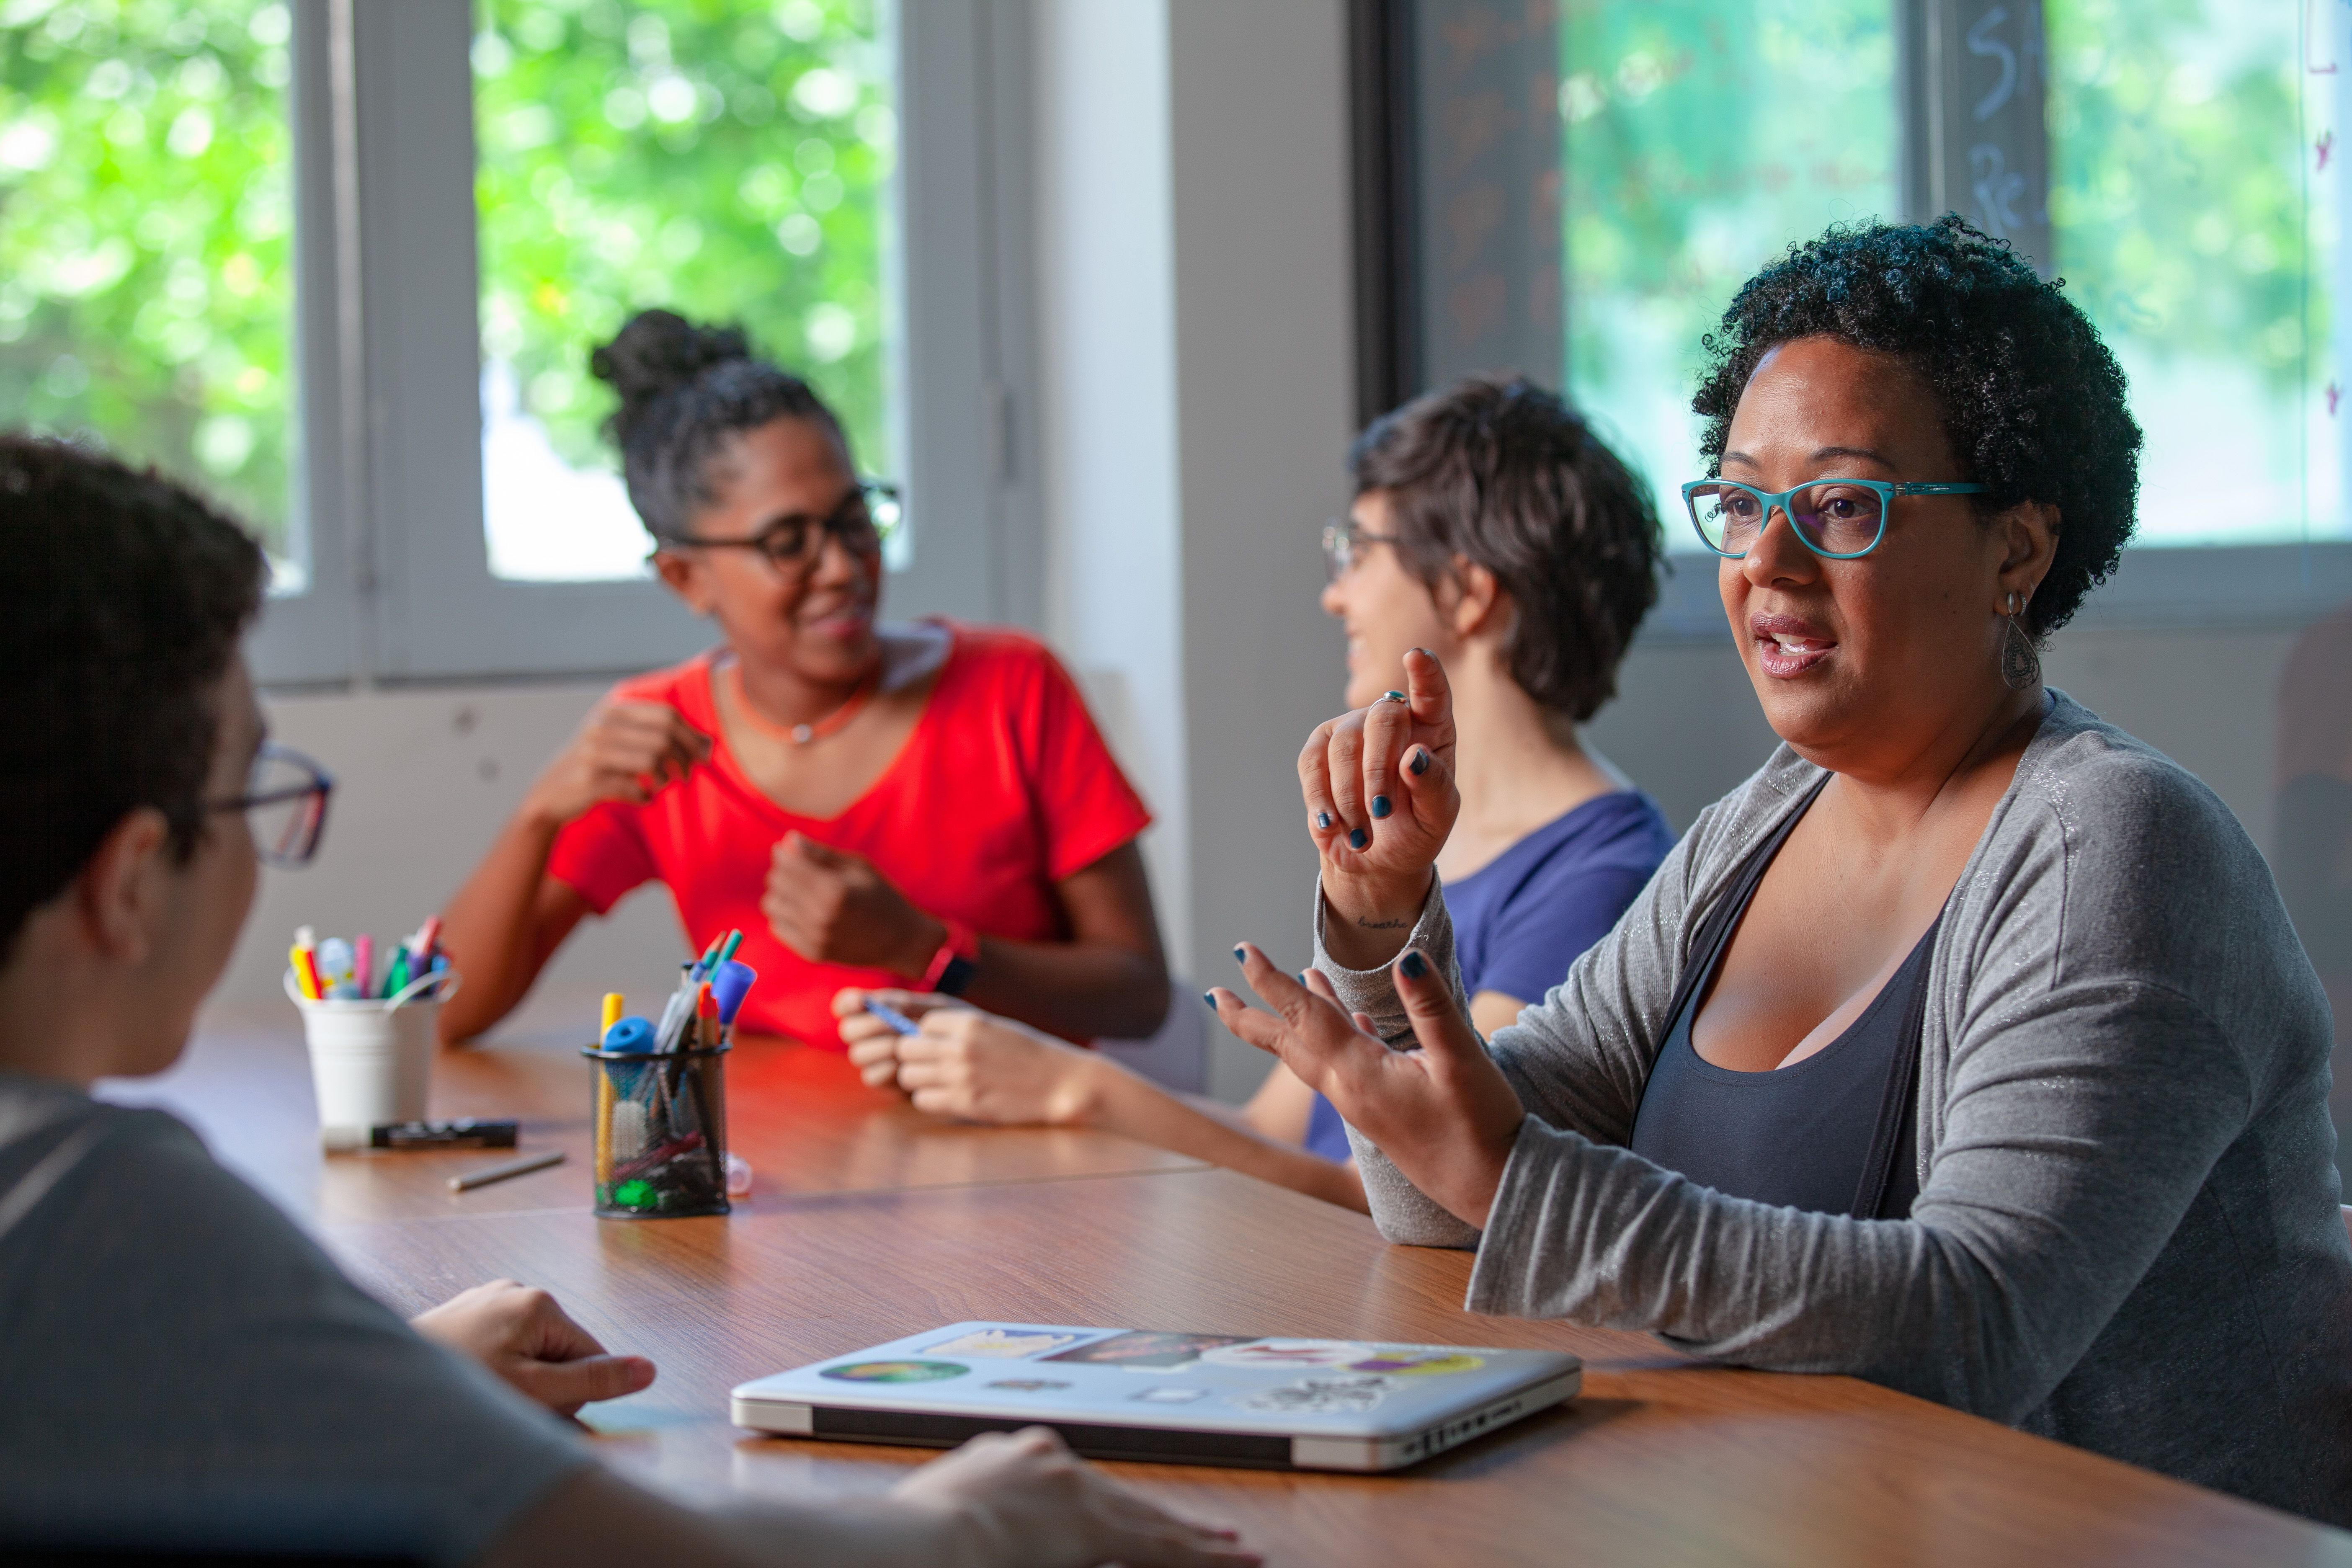
[(1684, 505), (1780, 750), (1482, 1041), (1416, 658), (1308, 743), (1315, 971), (1244, 945), (1270, 1011), (1221, 1018), (1338, 1105), (1392, 1241), (1477, 1248), (1475, 1312), (2352, 1521), (2326, 997), (2213, 792), (2042, 684), (2133, 527), (2114, 357), (1959, 219), (1792, 249), (1708, 350)]

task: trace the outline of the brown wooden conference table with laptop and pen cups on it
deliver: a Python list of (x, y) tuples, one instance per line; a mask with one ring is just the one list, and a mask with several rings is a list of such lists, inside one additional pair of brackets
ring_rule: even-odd
[(2347, 1563), (2352, 1535), (1851, 1378), (1710, 1368), (1656, 1340), (1461, 1309), (1470, 1258), (1228, 1171), (1080, 1131), (950, 1126), (837, 1056), (746, 1044), (715, 1220), (588, 1213), (588, 1074), (562, 1032), (435, 1065), (440, 1117), (520, 1117), (567, 1161), (452, 1194), (503, 1152), (320, 1157), (292, 1027), (212, 1027), (169, 1105), (405, 1312), (546, 1286), (659, 1382), (590, 1406), (600, 1453), (682, 1495), (873, 1493), (931, 1458), (764, 1439), (748, 1378), (957, 1319), (1569, 1349), (1585, 1394), (1392, 1476), (1112, 1465), (1270, 1563)]

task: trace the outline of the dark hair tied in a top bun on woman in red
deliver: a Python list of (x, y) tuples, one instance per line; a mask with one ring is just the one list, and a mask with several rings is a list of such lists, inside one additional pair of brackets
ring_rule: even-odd
[(717, 501), (715, 458), (743, 430), (807, 418), (849, 461), (849, 435), (826, 400), (757, 357), (741, 327), (640, 310), (588, 355), (588, 371), (621, 395), (604, 435), (621, 449), (628, 501), (656, 541), (689, 538), (694, 515)]

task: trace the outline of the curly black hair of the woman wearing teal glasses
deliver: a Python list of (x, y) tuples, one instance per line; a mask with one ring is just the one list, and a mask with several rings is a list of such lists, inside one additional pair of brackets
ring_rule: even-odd
[(2023, 501), (2058, 508), (2058, 555), (2025, 611), (2037, 637), (2058, 630), (2114, 571), (2140, 494), (2124, 369), (2063, 287), (1950, 212), (1792, 244), (1705, 336), (1691, 409), (1708, 421), (1708, 473), (1722, 470), (1740, 390), (1771, 348), (1832, 336), (1893, 355), (1943, 400), (1962, 475), (1985, 487), (1980, 517)]

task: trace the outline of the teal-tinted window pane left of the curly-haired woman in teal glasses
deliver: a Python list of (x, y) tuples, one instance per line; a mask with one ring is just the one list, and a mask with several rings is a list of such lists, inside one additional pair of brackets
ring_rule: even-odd
[(1698, 477), (1698, 339), (1733, 292), (1830, 223), (1898, 216), (1891, 7), (1573, 0), (1559, 35), (1569, 390), (1668, 501)]

